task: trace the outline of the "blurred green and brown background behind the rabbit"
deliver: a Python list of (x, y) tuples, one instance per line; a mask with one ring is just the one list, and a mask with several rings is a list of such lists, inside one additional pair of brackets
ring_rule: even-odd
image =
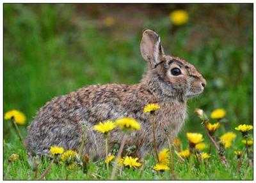
[[(174, 26), (169, 14), (179, 9), (189, 20)], [(28, 125), (54, 96), (139, 82), (145, 28), (207, 80), (204, 94), (189, 101), (181, 133), (202, 132), (195, 108), (225, 108), (226, 131), (253, 123), (253, 4), (4, 4), (4, 112), (24, 112)]]

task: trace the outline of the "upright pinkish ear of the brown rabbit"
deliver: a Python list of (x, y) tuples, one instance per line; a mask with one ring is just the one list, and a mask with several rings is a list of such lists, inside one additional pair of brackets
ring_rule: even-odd
[(143, 59), (149, 62), (152, 68), (155, 68), (161, 62), (164, 50), (157, 33), (149, 29), (143, 32), (140, 42), (140, 52)]

